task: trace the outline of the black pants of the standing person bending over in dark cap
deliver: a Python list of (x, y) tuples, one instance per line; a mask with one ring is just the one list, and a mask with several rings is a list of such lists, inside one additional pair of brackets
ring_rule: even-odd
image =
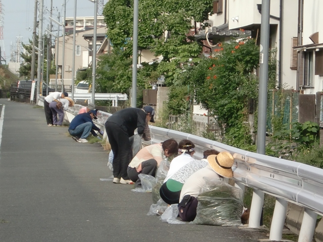
[(132, 160), (129, 135), (121, 126), (111, 122), (105, 123), (105, 131), (114, 155), (112, 162), (113, 176), (128, 180), (127, 169)]

